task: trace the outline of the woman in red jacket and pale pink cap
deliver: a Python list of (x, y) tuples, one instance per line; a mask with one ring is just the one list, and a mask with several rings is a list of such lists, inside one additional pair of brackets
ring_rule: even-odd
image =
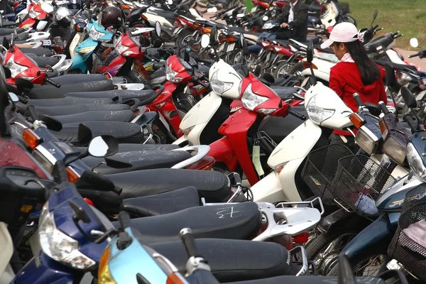
[[(339, 23), (334, 26), (329, 39), (321, 45), (323, 49), (328, 47), (340, 60), (330, 71), (329, 87), (352, 111), (358, 110), (354, 93), (359, 94), (362, 102), (387, 103), (383, 85), (384, 74), (376, 63), (368, 58), (356, 26), (351, 23)], [(346, 146), (355, 150), (354, 136), (348, 131), (334, 131), (330, 143), (346, 143)]]

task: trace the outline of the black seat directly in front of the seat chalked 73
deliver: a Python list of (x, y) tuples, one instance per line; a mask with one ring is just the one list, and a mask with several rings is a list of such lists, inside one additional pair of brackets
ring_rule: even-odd
[[(288, 250), (280, 244), (231, 239), (197, 239), (195, 242), (220, 283), (288, 275), (293, 267)], [(151, 248), (180, 271), (185, 270), (187, 253), (182, 241), (152, 244)], [(298, 282), (281, 284), (284, 283)]]

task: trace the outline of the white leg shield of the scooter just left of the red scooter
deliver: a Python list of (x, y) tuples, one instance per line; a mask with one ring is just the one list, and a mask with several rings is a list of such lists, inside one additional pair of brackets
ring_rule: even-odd
[(187, 140), (190, 141), (192, 145), (200, 145), (201, 133), (214, 114), (216, 114), (221, 103), (222, 97), (215, 92), (210, 92), (192, 107), (182, 121), (180, 121), (179, 127), (183, 131), (192, 127), (190, 133), (187, 134)]

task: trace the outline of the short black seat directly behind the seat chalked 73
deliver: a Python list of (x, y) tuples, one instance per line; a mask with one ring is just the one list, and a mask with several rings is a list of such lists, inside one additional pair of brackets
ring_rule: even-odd
[(200, 206), (200, 196), (195, 187), (135, 197), (123, 200), (120, 211), (126, 211), (136, 217), (149, 217), (178, 212), (183, 209)]

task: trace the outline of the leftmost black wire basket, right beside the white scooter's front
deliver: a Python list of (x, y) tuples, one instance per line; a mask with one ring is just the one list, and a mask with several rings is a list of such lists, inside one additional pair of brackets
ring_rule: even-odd
[(342, 144), (325, 146), (307, 155), (302, 170), (303, 181), (326, 205), (334, 204), (334, 197), (329, 190), (336, 175), (337, 162), (348, 155), (354, 153)]

